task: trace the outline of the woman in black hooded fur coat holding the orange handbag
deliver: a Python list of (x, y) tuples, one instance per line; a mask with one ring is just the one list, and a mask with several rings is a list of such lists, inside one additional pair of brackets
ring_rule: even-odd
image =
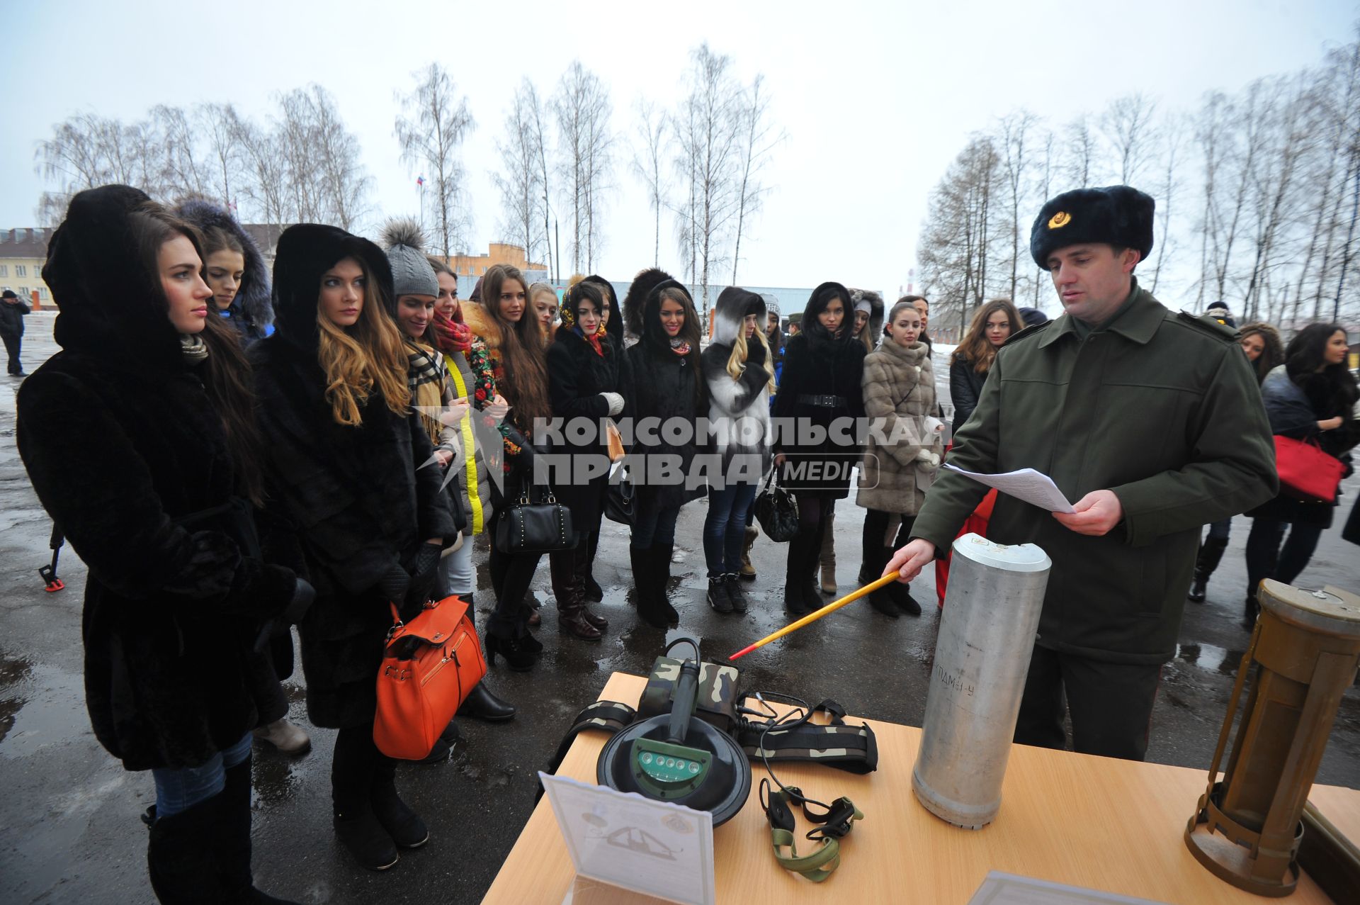
[(339, 729), (335, 827), (367, 868), (430, 833), (397, 796), (396, 761), (373, 742), (389, 604), (419, 612), (439, 551), (457, 539), (407, 357), (385, 313), (388, 257), (333, 226), (284, 230), (273, 264), (276, 332), (250, 348), (275, 493), (298, 525), (317, 602), (299, 625), (307, 713)]

